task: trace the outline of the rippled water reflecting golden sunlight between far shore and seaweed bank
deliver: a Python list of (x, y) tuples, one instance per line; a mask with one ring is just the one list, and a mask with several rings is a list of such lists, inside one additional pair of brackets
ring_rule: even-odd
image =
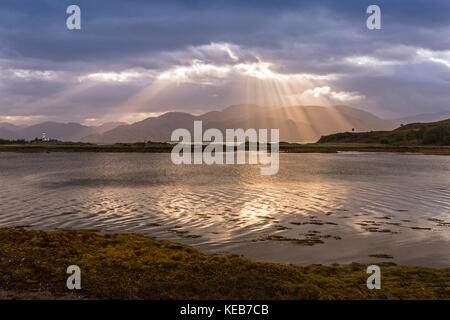
[(293, 264), (448, 267), (449, 190), (446, 156), (280, 154), (261, 176), (168, 154), (0, 153), (2, 227), (139, 232)]

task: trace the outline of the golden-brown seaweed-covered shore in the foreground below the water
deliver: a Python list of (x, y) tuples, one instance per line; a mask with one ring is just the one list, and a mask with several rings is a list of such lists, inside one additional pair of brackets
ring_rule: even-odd
[(88, 299), (450, 299), (450, 269), (377, 263), (382, 289), (368, 290), (366, 266), (307, 267), (206, 255), (136, 234), (0, 229), (0, 291), (67, 298), (66, 268), (78, 265)]

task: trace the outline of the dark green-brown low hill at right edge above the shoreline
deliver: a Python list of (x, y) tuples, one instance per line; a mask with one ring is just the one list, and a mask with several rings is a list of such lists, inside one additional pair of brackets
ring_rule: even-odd
[(450, 119), (431, 123), (411, 123), (392, 131), (336, 133), (321, 137), (318, 143), (450, 146)]

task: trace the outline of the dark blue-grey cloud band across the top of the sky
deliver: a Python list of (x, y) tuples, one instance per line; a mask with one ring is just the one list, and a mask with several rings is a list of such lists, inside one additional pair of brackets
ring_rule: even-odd
[(139, 56), (210, 42), (271, 49), (295, 41), (327, 48), (314, 52), (319, 57), (399, 43), (450, 48), (439, 32), (449, 27), (445, 1), (381, 1), (378, 32), (365, 28), (373, 1), (77, 1), (83, 30), (70, 32), (64, 22), (72, 2), (3, 1), (6, 54), (130, 66)]

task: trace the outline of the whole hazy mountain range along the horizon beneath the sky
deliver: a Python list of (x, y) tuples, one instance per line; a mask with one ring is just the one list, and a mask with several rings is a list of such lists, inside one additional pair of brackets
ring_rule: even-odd
[[(92, 143), (170, 141), (173, 130), (188, 129), (193, 132), (193, 122), (201, 120), (203, 131), (225, 129), (280, 129), (280, 140), (288, 142), (315, 142), (321, 136), (337, 132), (363, 132), (371, 130), (392, 130), (400, 123), (423, 122), (435, 118), (445, 119), (448, 113), (425, 114), (395, 120), (384, 120), (369, 112), (348, 106), (291, 106), (261, 107), (257, 105), (233, 105), (221, 111), (210, 111), (201, 115), (184, 112), (167, 112), (158, 117), (125, 124), (105, 123), (101, 126), (84, 126), (79, 123), (43, 122), (32, 126), (16, 126), (0, 123), (0, 139), (47, 137), (60, 141), (82, 141)], [(442, 117), (442, 118), (440, 118)], [(411, 119), (408, 120), (408, 119)]]

